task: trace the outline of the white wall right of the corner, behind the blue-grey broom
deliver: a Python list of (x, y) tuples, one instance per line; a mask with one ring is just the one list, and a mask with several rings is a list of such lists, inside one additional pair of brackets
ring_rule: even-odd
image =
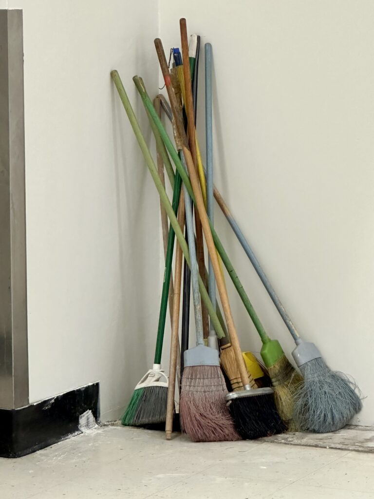
[[(374, 3), (160, 6), (165, 50), (180, 46), (182, 16), (189, 33), (213, 45), (217, 187), (300, 333), (367, 396), (355, 422), (373, 425)], [(290, 357), (293, 341), (218, 212), (216, 225), (266, 329)], [(230, 294), (242, 347), (258, 352), (254, 327)]]

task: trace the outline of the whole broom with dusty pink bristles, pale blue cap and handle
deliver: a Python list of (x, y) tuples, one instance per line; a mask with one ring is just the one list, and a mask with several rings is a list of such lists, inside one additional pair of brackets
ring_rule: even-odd
[(185, 352), (180, 400), (181, 428), (193, 442), (239, 440), (225, 404), (227, 388), (219, 367), (218, 351), (204, 346), (191, 200), (186, 187), (184, 194), (197, 345)]

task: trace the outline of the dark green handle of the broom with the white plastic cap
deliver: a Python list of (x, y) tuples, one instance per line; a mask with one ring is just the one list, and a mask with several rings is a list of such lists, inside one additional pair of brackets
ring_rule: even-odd
[[(180, 174), (177, 172), (174, 182), (174, 190), (173, 190), (173, 211), (178, 215), (178, 205), (179, 198), (181, 197), (181, 188), (182, 188), (182, 178)], [(169, 236), (168, 236), (168, 247), (166, 252), (165, 259), (165, 270), (164, 270), (164, 282), (163, 282), (163, 290), (161, 294), (161, 305), (160, 305), (160, 315), (159, 315), (159, 326), (157, 329), (157, 340), (156, 340), (156, 351), (155, 351), (155, 360), (154, 364), (161, 364), (161, 357), (163, 351), (163, 343), (164, 343), (164, 333), (165, 333), (165, 323), (166, 323), (166, 311), (168, 308), (168, 298), (169, 298), (169, 287), (170, 287), (170, 276), (172, 274), (172, 263), (173, 263), (173, 253), (174, 253), (174, 241), (175, 241), (175, 232), (172, 224), (169, 227)]]

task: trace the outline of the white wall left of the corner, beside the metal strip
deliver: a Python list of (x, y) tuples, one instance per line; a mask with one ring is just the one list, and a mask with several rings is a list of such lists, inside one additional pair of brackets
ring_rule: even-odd
[(152, 365), (158, 197), (110, 79), (152, 92), (157, 2), (9, 0), (23, 9), (30, 401), (101, 382), (115, 419)]

